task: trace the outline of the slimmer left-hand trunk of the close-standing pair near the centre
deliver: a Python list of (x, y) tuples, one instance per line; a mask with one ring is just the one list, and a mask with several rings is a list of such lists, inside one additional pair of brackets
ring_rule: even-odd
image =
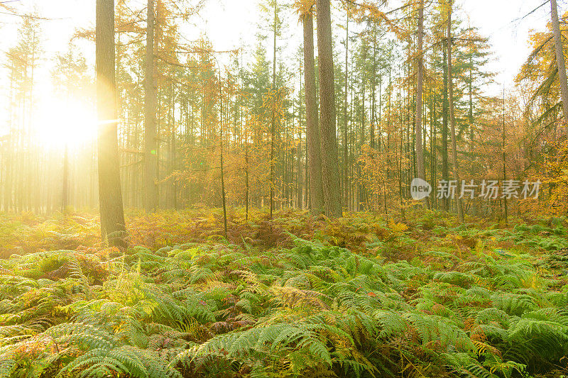
[(307, 164), (310, 180), (310, 209), (319, 214), (324, 211), (322, 187), (322, 155), (320, 148), (320, 126), (317, 124), (314, 61), (314, 21), (311, 14), (304, 21), (304, 87), (306, 103)]

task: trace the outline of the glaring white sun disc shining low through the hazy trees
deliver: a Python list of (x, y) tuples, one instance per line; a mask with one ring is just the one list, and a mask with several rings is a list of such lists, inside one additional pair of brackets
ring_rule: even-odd
[(45, 148), (75, 148), (97, 138), (97, 115), (75, 99), (48, 99), (39, 104), (32, 129)]

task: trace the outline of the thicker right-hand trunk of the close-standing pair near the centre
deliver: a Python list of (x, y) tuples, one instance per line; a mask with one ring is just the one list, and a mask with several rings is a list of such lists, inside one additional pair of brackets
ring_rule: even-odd
[(325, 213), (342, 216), (339, 185), (337, 133), (335, 125), (335, 89), (332, 50), (332, 15), (329, 0), (317, 0), (317, 50), (320, 57), (320, 140)]

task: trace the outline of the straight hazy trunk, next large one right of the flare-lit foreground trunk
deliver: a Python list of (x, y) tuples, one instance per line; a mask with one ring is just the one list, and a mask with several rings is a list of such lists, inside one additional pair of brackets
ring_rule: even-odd
[(154, 87), (154, 0), (148, 0), (148, 27), (146, 29), (146, 77), (144, 118), (144, 209), (151, 213), (158, 209), (158, 150), (155, 125)]

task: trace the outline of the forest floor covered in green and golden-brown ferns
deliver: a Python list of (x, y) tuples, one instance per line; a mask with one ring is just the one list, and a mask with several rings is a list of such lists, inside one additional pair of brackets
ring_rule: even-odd
[(0, 214), (0, 377), (567, 377), (568, 219)]

